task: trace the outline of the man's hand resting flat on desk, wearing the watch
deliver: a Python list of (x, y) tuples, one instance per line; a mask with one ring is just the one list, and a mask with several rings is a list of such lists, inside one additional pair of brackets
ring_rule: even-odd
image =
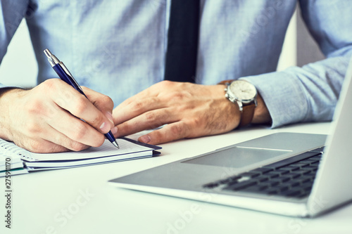
[(164, 124), (168, 125), (139, 141), (160, 144), (231, 131), (239, 124), (240, 112), (238, 105), (225, 98), (224, 88), (169, 81), (154, 84), (113, 110), (118, 127), (115, 137)]

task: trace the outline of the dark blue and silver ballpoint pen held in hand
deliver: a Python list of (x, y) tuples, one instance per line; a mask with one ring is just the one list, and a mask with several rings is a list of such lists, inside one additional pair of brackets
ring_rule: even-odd
[[(70, 73), (70, 71), (67, 69), (67, 67), (65, 67), (63, 62), (58, 60), (58, 58), (56, 58), (56, 56), (54, 56), (54, 54), (52, 54), (49, 51), (49, 49), (47, 49), (47, 48), (44, 50), (44, 53), (45, 53), (46, 57), (48, 57), (48, 61), (51, 65), (51, 67), (53, 67), (55, 72), (58, 74), (58, 77), (60, 77), (67, 84), (70, 84), (70, 86), (73, 86), (73, 88), (75, 88), (75, 90), (79, 91), (81, 94), (83, 94), (87, 98), (87, 96), (83, 93), (81, 86), (73, 78), (73, 75)], [(109, 131), (107, 134), (104, 134), (104, 135), (106, 138), (108, 138), (108, 140), (111, 143), (113, 143), (113, 145), (115, 145), (115, 147), (120, 148), (118, 146), (118, 142), (116, 141), (116, 139), (113, 136), (113, 134), (111, 133), (111, 131)]]

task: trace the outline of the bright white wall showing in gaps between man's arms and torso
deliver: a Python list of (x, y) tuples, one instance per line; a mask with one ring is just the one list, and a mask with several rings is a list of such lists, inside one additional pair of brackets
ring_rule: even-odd
[[(283, 70), (293, 65), (296, 65), (296, 13), (290, 22), (277, 70)], [(23, 20), (1, 63), (0, 83), (8, 85), (21, 84), (25, 87), (34, 86), (37, 70), (30, 36)]]

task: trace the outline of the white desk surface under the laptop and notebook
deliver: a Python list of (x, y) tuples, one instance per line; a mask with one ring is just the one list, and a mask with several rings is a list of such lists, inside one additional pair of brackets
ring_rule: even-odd
[[(1, 233), (352, 233), (352, 204), (317, 219), (296, 219), (107, 183), (111, 178), (277, 131), (327, 134), (329, 124), (233, 131), (163, 144), (160, 157), (13, 176), (12, 229), (5, 228), (6, 202), (1, 194)], [(5, 190), (4, 178), (0, 188)]]

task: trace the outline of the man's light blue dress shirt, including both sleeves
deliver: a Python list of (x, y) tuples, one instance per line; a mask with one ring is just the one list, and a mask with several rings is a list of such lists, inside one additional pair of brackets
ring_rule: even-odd
[[(25, 18), (38, 83), (57, 77), (43, 53), (49, 48), (79, 84), (116, 106), (163, 80), (170, 1), (1, 0), (0, 61)], [(327, 59), (275, 72), (297, 2)], [(352, 55), (351, 12), (350, 0), (201, 0), (196, 82), (252, 82), (272, 127), (329, 121)]]

